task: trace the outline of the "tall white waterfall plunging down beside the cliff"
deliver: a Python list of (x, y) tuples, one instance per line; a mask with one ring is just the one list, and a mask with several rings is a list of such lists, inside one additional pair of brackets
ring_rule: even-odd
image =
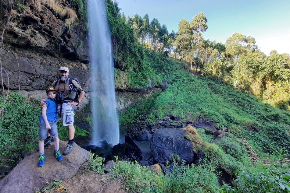
[(102, 141), (119, 143), (112, 43), (105, 0), (88, 0), (89, 47), (91, 57), (91, 145)]

